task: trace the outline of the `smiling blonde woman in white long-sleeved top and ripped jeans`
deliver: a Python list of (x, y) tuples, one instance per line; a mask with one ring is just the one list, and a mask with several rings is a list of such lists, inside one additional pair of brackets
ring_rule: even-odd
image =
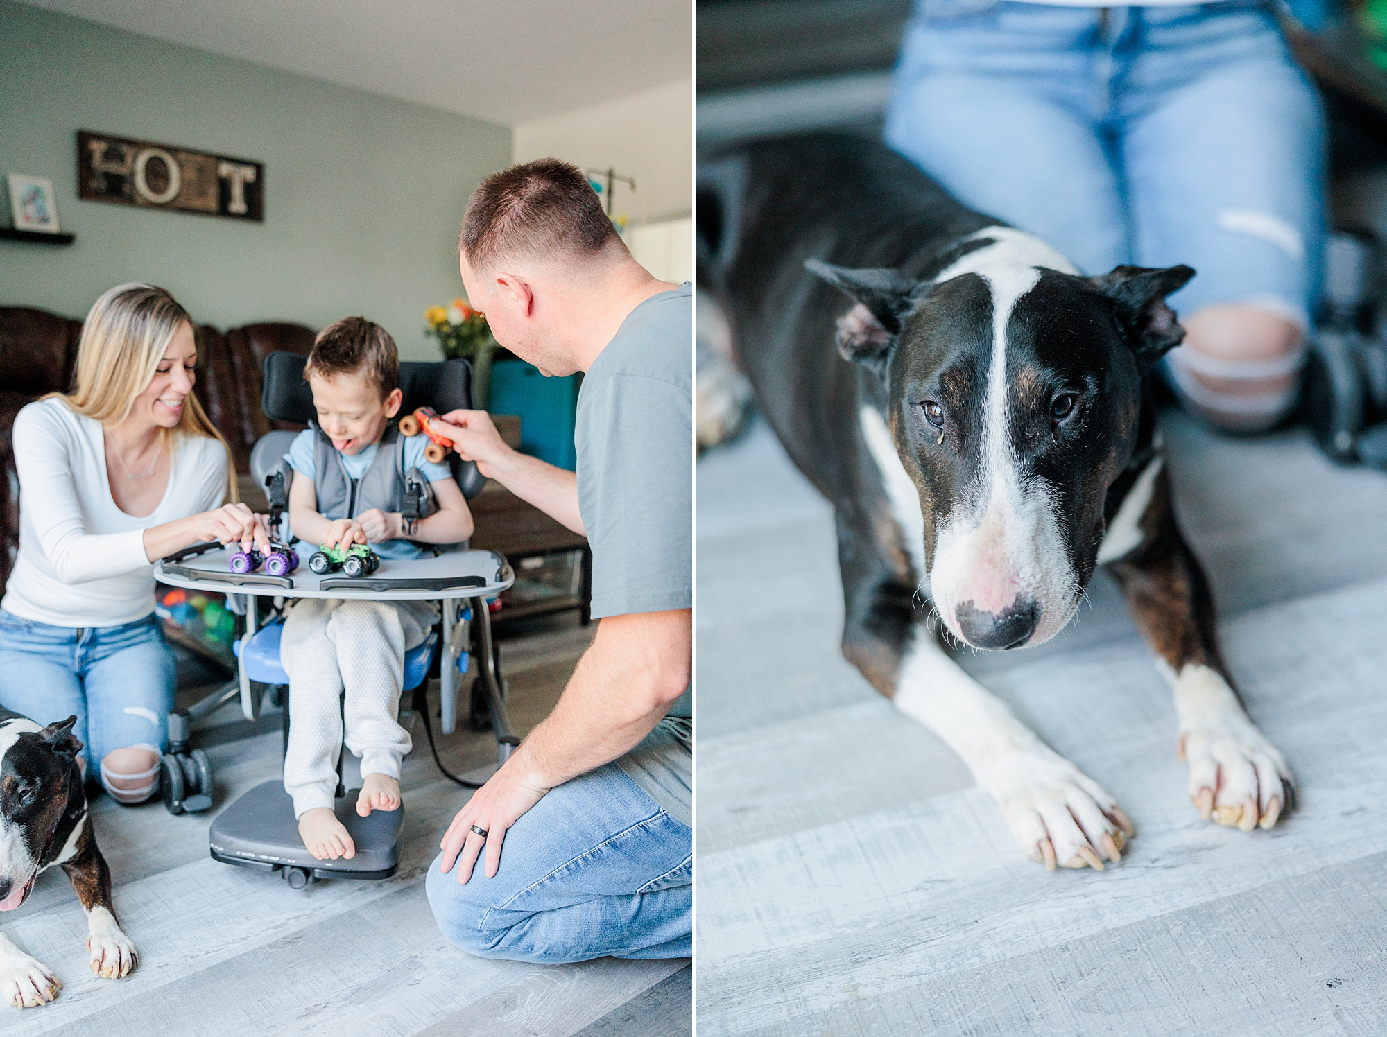
[(14, 421), (19, 555), (0, 602), (0, 706), (39, 724), (76, 714), (86, 772), (119, 803), (158, 790), (173, 653), (153, 563), (197, 541), (264, 542), (233, 502), (229, 452), (193, 397), (187, 312), (153, 284), (92, 306), (76, 391)]

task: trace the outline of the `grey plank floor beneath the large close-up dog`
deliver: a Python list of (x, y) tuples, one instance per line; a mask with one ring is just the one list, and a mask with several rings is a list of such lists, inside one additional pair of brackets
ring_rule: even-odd
[(1200, 821), (1165, 682), (1101, 575), (1068, 631), (964, 660), (1137, 826), (1046, 872), (838, 650), (831, 512), (764, 424), (698, 470), (699, 1034), (1387, 1031), (1387, 478), (1298, 431), (1164, 417), (1230, 665), (1301, 810)]

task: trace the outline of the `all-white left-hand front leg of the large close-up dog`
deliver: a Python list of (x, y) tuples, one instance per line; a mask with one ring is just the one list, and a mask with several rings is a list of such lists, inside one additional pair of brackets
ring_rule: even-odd
[(972, 768), (1028, 857), (1100, 871), (1103, 857), (1121, 860), (1136, 830), (1117, 801), (968, 677), (924, 624), (902, 657), (893, 700)]

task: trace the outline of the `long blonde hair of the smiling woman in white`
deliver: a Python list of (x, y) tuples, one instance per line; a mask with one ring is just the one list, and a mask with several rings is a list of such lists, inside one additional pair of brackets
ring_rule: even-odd
[[(58, 398), (107, 428), (119, 424), (129, 416), (135, 398), (154, 380), (164, 351), (183, 323), (191, 327), (193, 319), (164, 288), (141, 283), (115, 286), (92, 305), (82, 324), (76, 390), (71, 395), (50, 392), (44, 399)], [(232, 451), (197, 395), (189, 394), (183, 402), (173, 433), (205, 435), (226, 448), (227, 500), (236, 500)]]

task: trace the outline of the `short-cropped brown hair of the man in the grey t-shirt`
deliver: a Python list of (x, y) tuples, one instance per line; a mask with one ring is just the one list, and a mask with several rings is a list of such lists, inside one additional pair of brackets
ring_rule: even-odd
[(595, 255), (626, 244), (581, 171), (540, 158), (492, 173), (467, 200), (458, 248), (473, 269), (513, 256)]

